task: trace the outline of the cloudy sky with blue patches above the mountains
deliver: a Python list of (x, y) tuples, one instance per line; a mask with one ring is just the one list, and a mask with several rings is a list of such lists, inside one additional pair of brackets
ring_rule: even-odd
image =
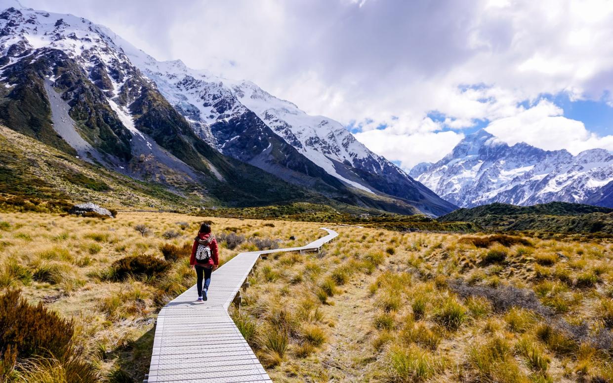
[(613, 151), (613, 1), (21, 0), (251, 80), (405, 170), (486, 129)]

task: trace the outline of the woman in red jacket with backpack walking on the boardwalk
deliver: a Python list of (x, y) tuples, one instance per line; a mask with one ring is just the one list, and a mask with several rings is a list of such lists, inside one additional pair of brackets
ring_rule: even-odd
[[(198, 301), (207, 300), (208, 285), (211, 283), (211, 273), (219, 265), (219, 252), (217, 240), (211, 235), (211, 226), (202, 224), (192, 246), (192, 255), (189, 264), (196, 270), (198, 277)], [(204, 277), (204, 287), (202, 279)]]

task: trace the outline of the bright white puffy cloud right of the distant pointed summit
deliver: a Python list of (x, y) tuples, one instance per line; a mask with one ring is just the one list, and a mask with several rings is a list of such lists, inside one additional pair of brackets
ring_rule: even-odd
[(613, 151), (613, 135), (598, 137), (588, 132), (581, 121), (562, 116), (563, 110), (547, 100), (517, 113), (493, 121), (488, 132), (509, 145), (525, 142), (545, 150), (565, 148), (572, 154), (590, 148)]

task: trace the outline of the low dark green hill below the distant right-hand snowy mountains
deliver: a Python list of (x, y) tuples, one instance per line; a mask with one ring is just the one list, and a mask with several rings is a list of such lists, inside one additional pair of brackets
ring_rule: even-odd
[(461, 208), (438, 218), (441, 222), (472, 222), (488, 230), (613, 234), (613, 208), (550, 202), (533, 206), (491, 203)]

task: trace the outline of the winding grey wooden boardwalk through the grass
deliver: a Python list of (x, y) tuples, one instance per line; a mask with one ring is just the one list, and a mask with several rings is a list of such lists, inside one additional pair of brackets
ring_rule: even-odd
[(194, 285), (164, 306), (158, 314), (151, 365), (143, 382), (271, 382), (227, 310), (232, 302), (240, 302), (240, 290), (259, 257), (319, 251), (338, 236), (322, 229), (328, 235), (306, 246), (242, 252), (213, 272), (207, 301), (196, 301)]

